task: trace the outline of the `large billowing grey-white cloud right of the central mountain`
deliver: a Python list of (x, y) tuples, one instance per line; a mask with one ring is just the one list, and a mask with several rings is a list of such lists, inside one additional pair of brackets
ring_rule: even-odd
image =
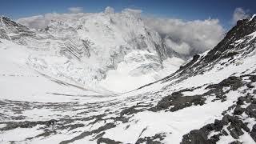
[(214, 48), (225, 30), (218, 19), (183, 21), (173, 18), (145, 18), (146, 24), (156, 30), (167, 44), (180, 54), (193, 55)]

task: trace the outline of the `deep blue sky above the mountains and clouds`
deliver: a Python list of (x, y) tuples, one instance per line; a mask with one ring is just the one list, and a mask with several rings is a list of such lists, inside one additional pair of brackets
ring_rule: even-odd
[(69, 7), (82, 7), (84, 12), (100, 12), (106, 6), (116, 11), (124, 8), (140, 9), (142, 14), (161, 18), (196, 20), (218, 18), (223, 26), (230, 26), (235, 8), (256, 13), (255, 0), (0, 0), (0, 14), (13, 19), (46, 13), (68, 13)]

